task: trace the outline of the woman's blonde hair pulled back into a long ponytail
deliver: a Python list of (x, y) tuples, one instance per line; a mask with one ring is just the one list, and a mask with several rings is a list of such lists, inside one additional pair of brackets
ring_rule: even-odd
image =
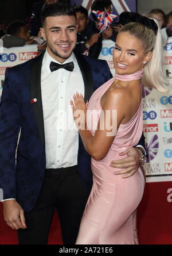
[(152, 58), (144, 66), (142, 83), (146, 87), (152, 87), (163, 93), (170, 90), (170, 86), (166, 82), (165, 74), (162, 71), (162, 43), (161, 32), (157, 20), (152, 19), (158, 26), (157, 35), (153, 29), (139, 22), (130, 22), (120, 29), (120, 32), (128, 32), (130, 35), (142, 41), (145, 53), (153, 52)]

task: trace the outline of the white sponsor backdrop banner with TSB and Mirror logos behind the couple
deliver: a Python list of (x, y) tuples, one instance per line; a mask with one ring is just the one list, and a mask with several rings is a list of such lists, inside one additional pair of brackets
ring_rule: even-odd
[[(172, 40), (169, 42), (163, 50), (163, 58), (164, 70), (170, 83), (169, 74), (172, 74), (172, 63), (166, 60), (172, 58)], [(169, 44), (171, 47), (169, 47)], [(111, 72), (114, 75), (115, 70), (112, 62), (113, 50), (114, 42), (104, 40), (99, 59), (107, 60)], [(6, 68), (24, 63), (36, 55), (37, 45), (3, 49), (0, 58), (0, 95), (2, 93)], [(148, 152), (147, 163), (144, 167), (147, 182), (169, 181), (172, 177), (172, 91), (163, 94), (157, 90), (143, 87), (142, 96), (143, 131), (146, 137), (146, 148)]]

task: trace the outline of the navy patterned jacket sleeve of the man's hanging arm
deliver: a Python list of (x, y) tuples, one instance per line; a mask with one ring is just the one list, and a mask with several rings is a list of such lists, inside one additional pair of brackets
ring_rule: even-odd
[(16, 198), (15, 150), (21, 127), (21, 112), (9, 71), (7, 68), (0, 104), (0, 188), (3, 200)]

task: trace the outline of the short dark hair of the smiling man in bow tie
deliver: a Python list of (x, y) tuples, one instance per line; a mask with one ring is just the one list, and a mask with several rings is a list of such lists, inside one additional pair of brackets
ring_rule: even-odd
[(74, 16), (76, 18), (73, 7), (64, 3), (52, 3), (51, 5), (45, 5), (44, 7), (42, 7), (42, 25), (44, 25), (46, 17), (52, 16)]

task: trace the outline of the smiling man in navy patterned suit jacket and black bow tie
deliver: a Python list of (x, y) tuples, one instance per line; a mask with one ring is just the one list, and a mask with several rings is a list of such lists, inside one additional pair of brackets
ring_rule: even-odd
[[(73, 127), (70, 101), (76, 91), (89, 100), (111, 72), (104, 60), (73, 54), (77, 27), (72, 7), (46, 6), (42, 24), (46, 51), (6, 70), (0, 108), (3, 214), (8, 226), (18, 230), (19, 244), (46, 244), (57, 209), (62, 240), (74, 244), (92, 173), (90, 156)], [(138, 151), (131, 148), (123, 164), (114, 167), (132, 175)]]

